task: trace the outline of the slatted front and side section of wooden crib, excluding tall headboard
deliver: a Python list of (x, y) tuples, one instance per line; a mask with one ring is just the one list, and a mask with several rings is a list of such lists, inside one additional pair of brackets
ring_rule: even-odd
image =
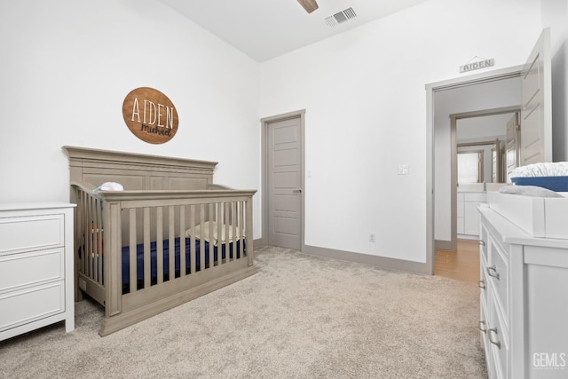
[(75, 190), (77, 285), (105, 306), (101, 336), (256, 272), (256, 191)]

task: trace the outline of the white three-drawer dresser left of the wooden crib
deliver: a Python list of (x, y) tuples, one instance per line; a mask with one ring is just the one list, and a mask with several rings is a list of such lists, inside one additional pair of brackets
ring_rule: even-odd
[(0, 340), (75, 328), (73, 204), (0, 203)]

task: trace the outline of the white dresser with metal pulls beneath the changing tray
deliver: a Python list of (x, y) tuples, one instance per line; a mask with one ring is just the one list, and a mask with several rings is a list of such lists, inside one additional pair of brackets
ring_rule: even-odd
[(535, 238), (490, 206), (479, 212), (479, 328), (489, 377), (567, 378), (568, 240)]

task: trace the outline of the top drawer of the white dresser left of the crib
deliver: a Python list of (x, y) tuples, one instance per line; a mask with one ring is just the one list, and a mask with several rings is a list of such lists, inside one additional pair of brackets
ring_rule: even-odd
[(0, 218), (0, 255), (61, 247), (65, 243), (62, 214)]

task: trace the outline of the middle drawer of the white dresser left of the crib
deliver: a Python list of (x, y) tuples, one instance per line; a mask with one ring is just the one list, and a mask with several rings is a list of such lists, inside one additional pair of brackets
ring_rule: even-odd
[(65, 278), (64, 249), (0, 256), (0, 294)]

